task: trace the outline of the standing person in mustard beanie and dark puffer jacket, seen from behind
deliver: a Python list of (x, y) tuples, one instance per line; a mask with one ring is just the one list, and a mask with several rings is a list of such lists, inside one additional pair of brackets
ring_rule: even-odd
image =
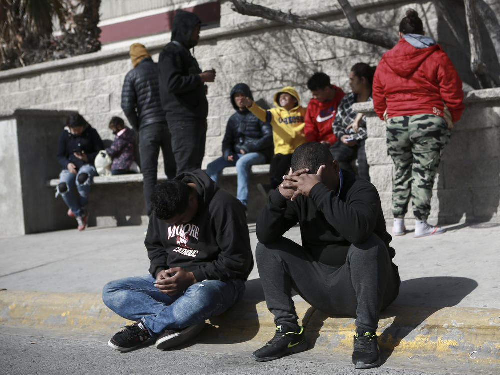
[(125, 76), (121, 90), (121, 108), (128, 122), (139, 132), (139, 153), (144, 180), (147, 215), (151, 214), (151, 194), (156, 185), (159, 149), (163, 153), (165, 174), (177, 174), (170, 132), (159, 97), (158, 64), (139, 43), (130, 46), (133, 69)]

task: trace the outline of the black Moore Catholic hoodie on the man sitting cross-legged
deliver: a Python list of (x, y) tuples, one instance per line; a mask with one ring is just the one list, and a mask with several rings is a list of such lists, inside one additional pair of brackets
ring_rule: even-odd
[(197, 281), (246, 280), (253, 256), (243, 205), (199, 169), (175, 178), (196, 185), (198, 210), (190, 222), (178, 226), (157, 219), (153, 210), (144, 241), (151, 275), (182, 267)]

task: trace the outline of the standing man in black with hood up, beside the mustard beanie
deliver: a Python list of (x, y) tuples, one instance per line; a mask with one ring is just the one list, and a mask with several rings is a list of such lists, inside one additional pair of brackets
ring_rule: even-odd
[(201, 168), (205, 154), (206, 82), (215, 80), (215, 70), (201, 72), (189, 51), (199, 42), (201, 20), (179, 10), (172, 21), (172, 39), (159, 55), (161, 105), (172, 135), (177, 174)]

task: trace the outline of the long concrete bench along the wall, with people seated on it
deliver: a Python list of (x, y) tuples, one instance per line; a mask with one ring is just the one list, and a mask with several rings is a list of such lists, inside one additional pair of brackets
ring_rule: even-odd
[[(158, 173), (158, 181), (166, 180), (163, 173)], [(249, 180), (248, 221), (255, 221), (265, 199), (257, 190), (257, 183), (266, 183), (269, 179), (269, 164), (253, 165)], [(147, 214), (142, 189), (142, 174), (122, 174), (115, 176), (96, 176), (93, 178), (90, 199), (87, 206), (90, 212), (89, 226), (122, 226), (147, 223)], [(47, 186), (55, 189), (58, 178), (47, 181)], [(218, 185), (236, 196), (236, 167), (224, 168)], [(58, 205), (62, 199), (57, 198)], [(63, 203), (62, 203), (63, 204)], [(59, 208), (64, 215), (65, 206)], [(65, 227), (73, 227), (74, 219), (68, 218)], [(58, 228), (59, 229), (59, 228)]]

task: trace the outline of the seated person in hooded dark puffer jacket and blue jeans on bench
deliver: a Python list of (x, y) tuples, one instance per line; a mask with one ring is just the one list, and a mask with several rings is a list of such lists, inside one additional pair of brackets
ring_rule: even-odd
[(254, 164), (269, 162), (273, 153), (272, 127), (251, 113), (242, 100), (253, 95), (244, 83), (231, 90), (231, 104), (236, 109), (225, 129), (222, 156), (208, 164), (206, 174), (217, 182), (218, 174), (227, 166), (236, 166), (238, 176), (237, 198), (246, 207), (248, 203), (248, 174)]

